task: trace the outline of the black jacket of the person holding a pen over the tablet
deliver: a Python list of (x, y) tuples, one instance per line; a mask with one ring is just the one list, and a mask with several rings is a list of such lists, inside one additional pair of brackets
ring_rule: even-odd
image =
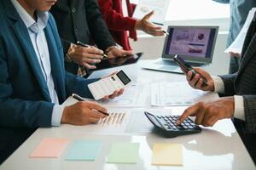
[[(80, 41), (91, 45), (96, 42), (102, 50), (115, 45), (96, 0), (61, 0), (55, 3), (50, 12), (55, 17), (64, 54), (70, 42)], [(78, 65), (66, 62), (65, 67), (67, 71), (77, 74)]]

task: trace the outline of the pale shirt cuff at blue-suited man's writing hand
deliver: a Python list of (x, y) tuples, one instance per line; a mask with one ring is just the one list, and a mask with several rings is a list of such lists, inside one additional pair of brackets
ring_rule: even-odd
[(63, 114), (65, 106), (64, 105), (55, 105), (52, 111), (51, 116), (51, 126), (59, 127), (61, 125), (61, 117)]

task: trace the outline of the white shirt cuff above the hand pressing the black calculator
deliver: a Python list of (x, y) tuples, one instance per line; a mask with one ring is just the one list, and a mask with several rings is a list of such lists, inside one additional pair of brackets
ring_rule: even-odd
[(242, 96), (235, 95), (234, 99), (235, 99), (234, 117), (236, 117), (236, 119), (245, 121), (243, 98), (242, 98)]

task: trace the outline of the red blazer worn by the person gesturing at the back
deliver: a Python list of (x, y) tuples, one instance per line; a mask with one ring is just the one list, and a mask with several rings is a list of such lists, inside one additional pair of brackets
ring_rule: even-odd
[(129, 37), (137, 40), (137, 33), (134, 29), (136, 20), (131, 18), (136, 5), (126, 0), (129, 17), (124, 17), (122, 0), (98, 0), (98, 3), (115, 42), (125, 50), (130, 50), (127, 31), (129, 31)]

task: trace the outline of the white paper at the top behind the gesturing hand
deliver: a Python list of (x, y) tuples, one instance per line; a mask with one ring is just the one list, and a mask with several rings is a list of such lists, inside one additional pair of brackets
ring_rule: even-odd
[(169, 3), (170, 0), (139, 0), (133, 13), (133, 18), (143, 19), (146, 14), (154, 10), (154, 15), (151, 16), (150, 21), (164, 25)]

